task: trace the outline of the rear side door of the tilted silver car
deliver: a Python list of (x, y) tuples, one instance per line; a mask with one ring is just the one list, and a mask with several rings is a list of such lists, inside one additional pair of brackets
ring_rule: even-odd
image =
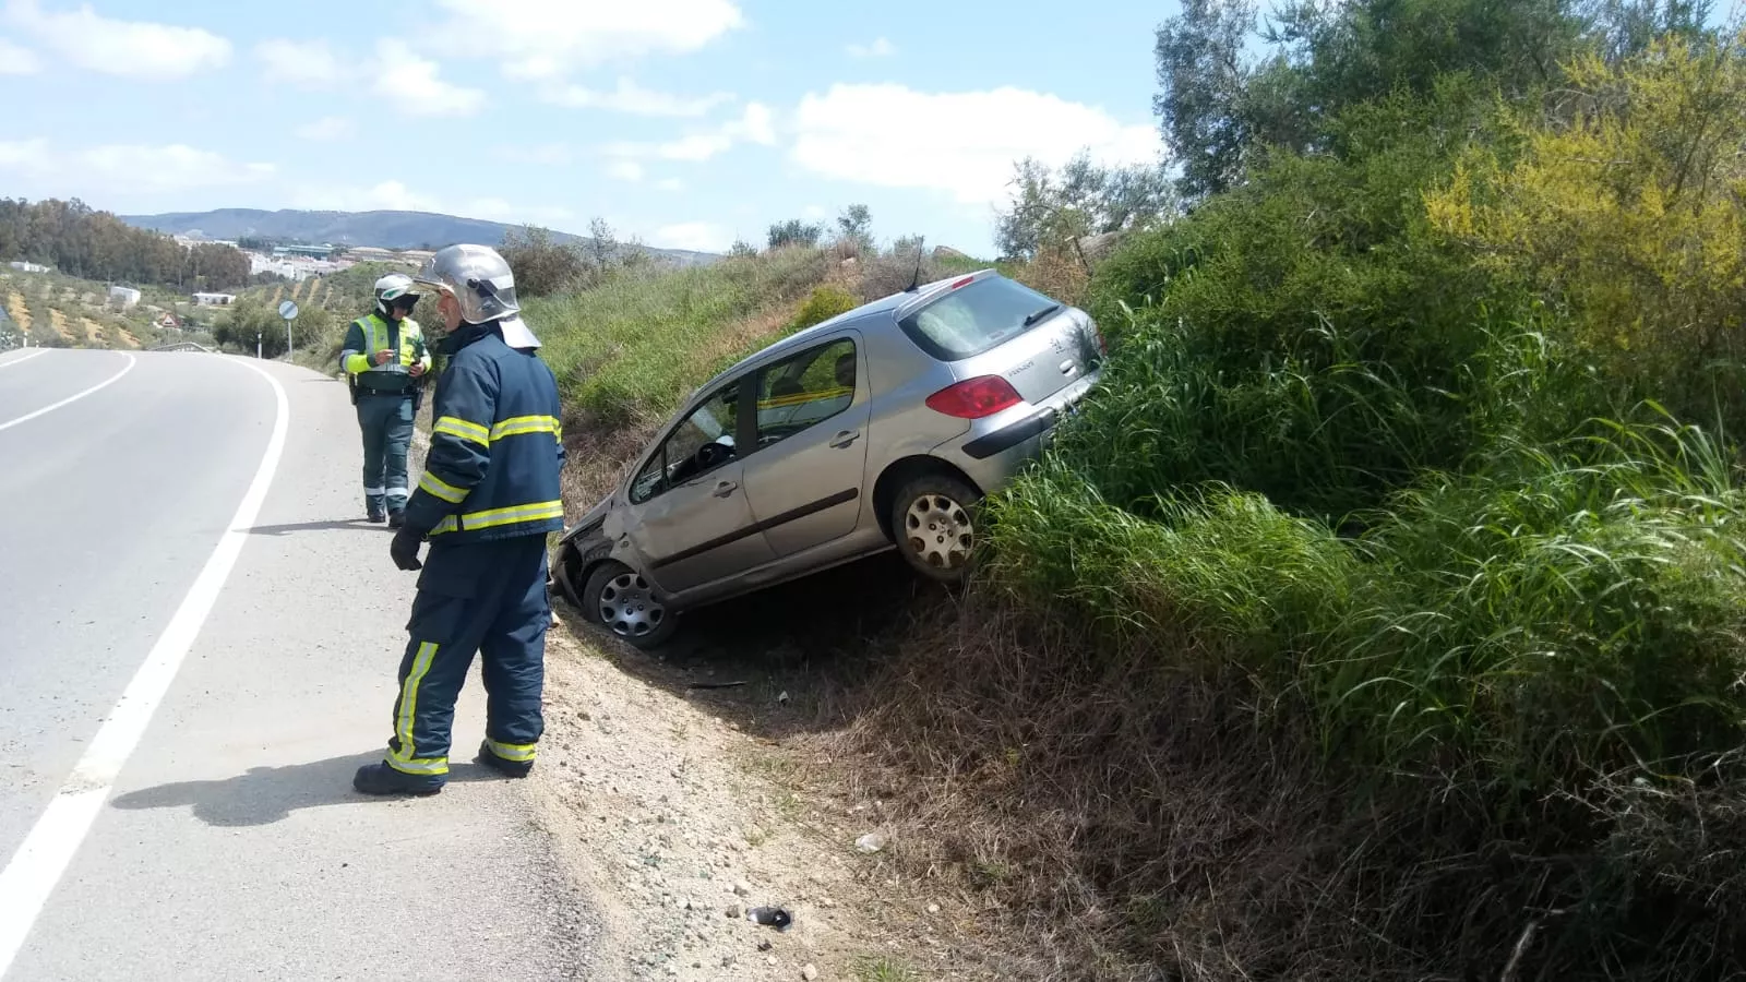
[(843, 332), (765, 367), (746, 496), (777, 556), (842, 538), (861, 517), (868, 458), (866, 353)]

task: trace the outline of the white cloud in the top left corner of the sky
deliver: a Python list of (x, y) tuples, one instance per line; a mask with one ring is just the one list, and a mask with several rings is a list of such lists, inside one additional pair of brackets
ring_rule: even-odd
[(230, 42), (201, 28), (101, 17), (89, 3), (47, 12), (38, 0), (10, 0), (7, 19), (70, 65), (131, 79), (182, 79), (222, 68)]

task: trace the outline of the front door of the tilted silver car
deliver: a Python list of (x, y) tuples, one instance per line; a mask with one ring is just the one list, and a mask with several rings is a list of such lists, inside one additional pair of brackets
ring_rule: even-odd
[(630, 482), (625, 533), (667, 594), (773, 559), (742, 488), (739, 414), (735, 381), (674, 426)]

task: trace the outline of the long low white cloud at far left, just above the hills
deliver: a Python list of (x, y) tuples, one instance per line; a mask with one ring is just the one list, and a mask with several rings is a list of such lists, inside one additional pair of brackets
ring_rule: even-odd
[(272, 175), (272, 164), (237, 163), (183, 143), (75, 150), (45, 138), (0, 142), (0, 183), (35, 197), (79, 196), (108, 208), (124, 208), (129, 196), (258, 183)]

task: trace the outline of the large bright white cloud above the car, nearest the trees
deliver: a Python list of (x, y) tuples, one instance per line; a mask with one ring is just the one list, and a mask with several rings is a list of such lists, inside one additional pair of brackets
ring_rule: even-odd
[[(814, 173), (945, 190), (966, 204), (1004, 201), (1013, 164), (1027, 156), (1060, 166), (1081, 149), (1100, 163), (1156, 161), (1163, 152), (1149, 124), (1014, 87), (918, 93), (838, 84), (801, 100), (796, 129), (791, 156)], [(904, 140), (885, 136), (896, 129)]]

